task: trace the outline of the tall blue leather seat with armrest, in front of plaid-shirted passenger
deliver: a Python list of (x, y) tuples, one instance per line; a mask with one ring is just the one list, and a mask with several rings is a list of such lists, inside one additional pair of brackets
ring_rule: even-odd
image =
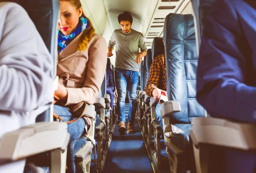
[(165, 101), (161, 110), (165, 145), (171, 172), (185, 172), (186, 160), (191, 157), (188, 155), (191, 120), (205, 116), (204, 108), (196, 100), (198, 58), (193, 16), (167, 15), (163, 40), (167, 96), (171, 100)]

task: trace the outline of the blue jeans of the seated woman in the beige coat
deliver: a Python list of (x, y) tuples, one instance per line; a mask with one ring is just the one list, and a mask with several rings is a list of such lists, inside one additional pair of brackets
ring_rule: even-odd
[[(65, 122), (69, 120), (74, 120), (77, 118), (72, 116), (71, 112), (69, 112), (69, 110), (66, 107), (54, 104), (53, 110), (55, 114), (61, 116), (61, 118), (63, 118)], [(84, 127), (85, 127), (85, 122), (83, 118), (80, 118), (76, 122), (69, 123), (68, 132), (70, 134), (70, 140), (78, 139), (83, 134)]]

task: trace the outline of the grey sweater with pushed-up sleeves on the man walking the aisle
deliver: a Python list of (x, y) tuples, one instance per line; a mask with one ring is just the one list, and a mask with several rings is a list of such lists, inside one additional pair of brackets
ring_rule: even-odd
[(129, 33), (124, 33), (122, 29), (114, 30), (108, 47), (116, 45), (116, 68), (132, 70), (139, 72), (139, 64), (135, 62), (136, 56), (140, 51), (146, 50), (146, 43), (142, 34), (132, 30)]

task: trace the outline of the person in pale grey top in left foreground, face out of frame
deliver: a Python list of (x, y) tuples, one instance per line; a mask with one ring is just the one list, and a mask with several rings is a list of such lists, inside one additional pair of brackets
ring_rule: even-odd
[[(53, 63), (27, 12), (0, 3), (0, 141), (7, 132), (35, 123), (53, 101)], [(17, 17), (19, 18), (17, 20)], [(23, 173), (25, 159), (0, 164), (0, 172)]]

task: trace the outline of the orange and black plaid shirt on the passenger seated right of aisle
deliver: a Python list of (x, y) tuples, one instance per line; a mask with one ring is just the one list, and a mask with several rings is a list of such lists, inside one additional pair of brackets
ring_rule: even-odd
[(148, 96), (152, 96), (152, 92), (155, 88), (166, 91), (165, 54), (158, 55), (150, 67), (150, 74), (146, 86), (146, 94)]

